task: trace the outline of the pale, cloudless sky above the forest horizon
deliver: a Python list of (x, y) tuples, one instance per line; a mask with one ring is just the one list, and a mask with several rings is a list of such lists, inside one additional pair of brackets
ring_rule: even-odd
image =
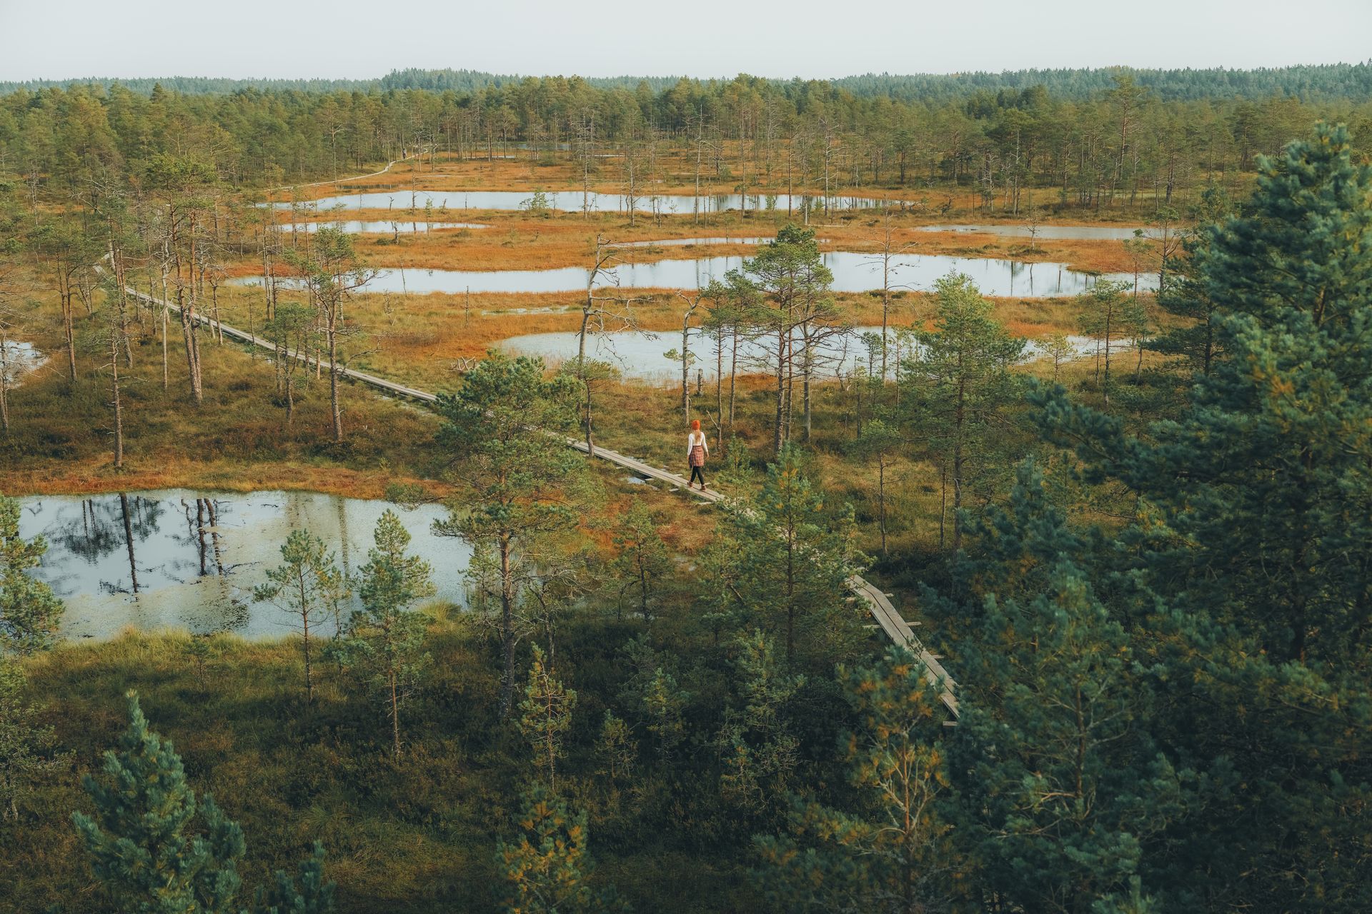
[(1372, 0), (0, 0), (0, 79), (827, 78), (1372, 59)]

